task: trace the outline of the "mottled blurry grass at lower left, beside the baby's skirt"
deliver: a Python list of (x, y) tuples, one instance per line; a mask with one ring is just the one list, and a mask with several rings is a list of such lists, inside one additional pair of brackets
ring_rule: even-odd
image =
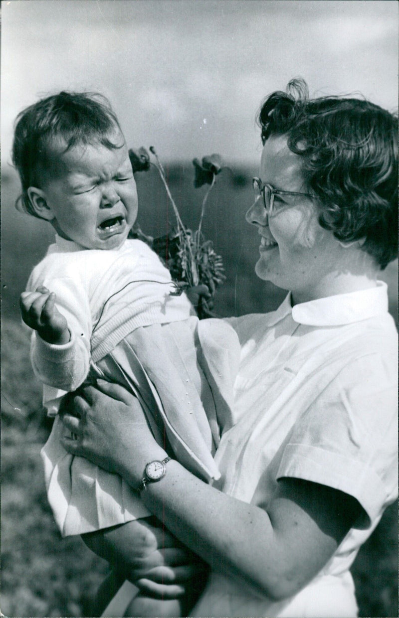
[[(49, 423), (30, 368), (27, 334), (2, 324), (1, 609), (6, 616), (87, 616), (107, 572), (49, 509), (40, 449)], [(17, 370), (15, 370), (17, 368)]]

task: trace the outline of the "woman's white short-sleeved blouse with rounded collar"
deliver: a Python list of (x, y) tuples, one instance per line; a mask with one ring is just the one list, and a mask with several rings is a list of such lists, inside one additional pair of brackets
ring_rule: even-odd
[(228, 322), (241, 361), (214, 485), (265, 508), (278, 479), (301, 478), (354, 496), (364, 514), (293, 598), (254, 598), (212, 574), (192, 616), (356, 616), (348, 569), (398, 495), (398, 345), (387, 287), (294, 308), (288, 295), (273, 313)]

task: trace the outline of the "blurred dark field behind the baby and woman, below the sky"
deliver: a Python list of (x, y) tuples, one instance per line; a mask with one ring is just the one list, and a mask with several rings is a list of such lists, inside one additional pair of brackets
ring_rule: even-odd
[[(182, 219), (195, 227), (204, 187), (195, 190), (191, 163), (167, 166)], [(276, 308), (285, 292), (254, 274), (259, 237), (244, 221), (256, 169), (223, 171), (208, 202), (204, 233), (225, 262), (227, 281), (217, 295), (221, 316)], [(138, 221), (151, 235), (165, 234), (173, 213), (158, 177), (136, 174)], [(50, 226), (14, 210), (18, 184), (2, 179), (2, 496), (1, 611), (5, 616), (91, 616), (90, 599), (108, 567), (79, 538), (62, 540), (46, 502), (40, 448), (51, 421), (41, 408), (40, 386), (28, 359), (28, 333), (18, 298), (32, 266), (53, 239)], [(397, 315), (397, 263), (384, 273), (390, 311)], [(376, 411), (377, 412), (377, 411)], [(398, 616), (398, 513), (390, 507), (353, 567), (360, 616)]]

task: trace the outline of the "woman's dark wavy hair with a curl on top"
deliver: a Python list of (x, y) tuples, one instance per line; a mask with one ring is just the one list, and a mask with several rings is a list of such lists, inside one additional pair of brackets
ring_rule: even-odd
[(364, 99), (309, 99), (306, 82), (273, 92), (259, 113), (262, 143), (287, 135), (303, 161), (320, 226), (338, 240), (364, 241), (381, 269), (398, 253), (398, 119)]

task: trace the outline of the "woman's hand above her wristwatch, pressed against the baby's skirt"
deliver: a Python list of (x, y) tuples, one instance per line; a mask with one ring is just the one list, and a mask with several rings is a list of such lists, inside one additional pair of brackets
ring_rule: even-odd
[(119, 384), (80, 387), (64, 398), (60, 416), (70, 432), (62, 439), (66, 451), (124, 476), (133, 488), (149, 461), (166, 457), (139, 400)]

